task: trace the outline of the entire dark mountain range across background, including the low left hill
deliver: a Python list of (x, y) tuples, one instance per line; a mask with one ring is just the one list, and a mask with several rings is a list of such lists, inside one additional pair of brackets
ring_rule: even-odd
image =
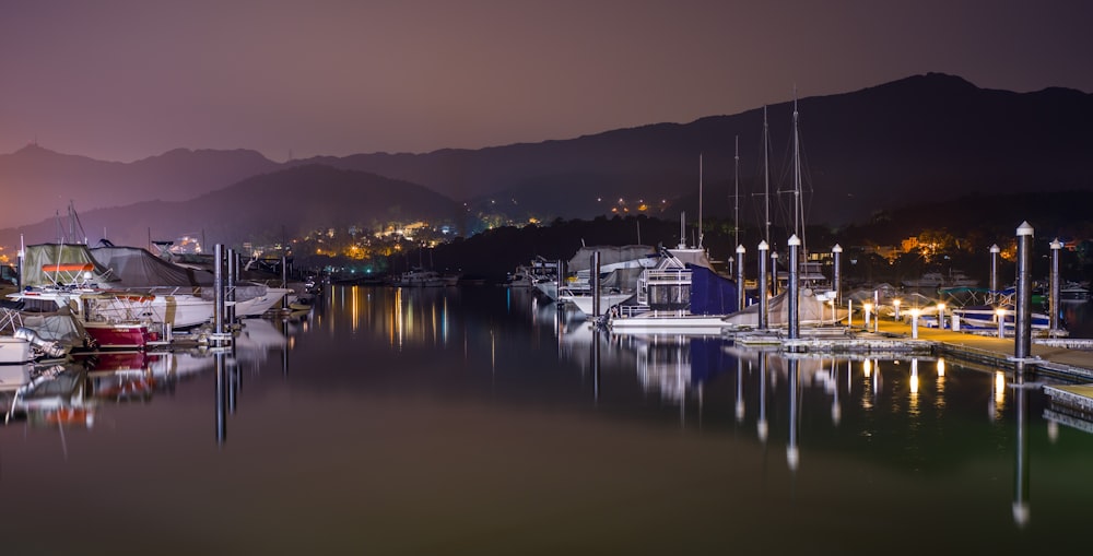
[(477, 212), (587, 218), (613, 208), (636, 210), (639, 202), (675, 218), (680, 210), (696, 213), (700, 181), (706, 214), (731, 214), (739, 189), (741, 218), (759, 222), (764, 175), (775, 215), (792, 189), (795, 109), (810, 223), (861, 222), (880, 210), (972, 193), (1093, 189), (1085, 164), (1093, 153), (1093, 95), (985, 90), (929, 73), (690, 123), (480, 150), (278, 163), (254, 151), (179, 149), (117, 163), (32, 144), (0, 155), (0, 228), (7, 228), (0, 244), (17, 242), (19, 234), (27, 242), (55, 240), (54, 215), (70, 202), (86, 229), (104, 227), (113, 238), (142, 245), (148, 236), (196, 230), (231, 241), (237, 234), (340, 223), (446, 218), (462, 225)]

